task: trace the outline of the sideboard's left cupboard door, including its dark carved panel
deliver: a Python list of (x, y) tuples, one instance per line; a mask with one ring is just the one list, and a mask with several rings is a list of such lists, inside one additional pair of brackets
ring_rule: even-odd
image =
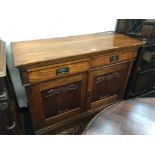
[(34, 130), (63, 121), (85, 110), (87, 74), (33, 85), (29, 94)]

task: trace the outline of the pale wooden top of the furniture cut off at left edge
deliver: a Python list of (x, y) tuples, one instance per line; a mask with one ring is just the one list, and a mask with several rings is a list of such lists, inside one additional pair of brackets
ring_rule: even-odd
[(6, 76), (6, 51), (5, 43), (0, 40), (0, 77)]

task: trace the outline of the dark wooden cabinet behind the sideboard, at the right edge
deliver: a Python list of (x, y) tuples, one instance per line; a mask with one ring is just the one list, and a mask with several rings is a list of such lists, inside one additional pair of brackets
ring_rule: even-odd
[(125, 98), (155, 94), (155, 19), (119, 19), (116, 31), (143, 40), (131, 70)]

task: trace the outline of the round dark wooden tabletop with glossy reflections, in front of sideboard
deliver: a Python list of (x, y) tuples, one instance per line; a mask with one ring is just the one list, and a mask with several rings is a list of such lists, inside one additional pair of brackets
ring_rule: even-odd
[(97, 114), (84, 135), (154, 135), (155, 98), (136, 98), (112, 105)]

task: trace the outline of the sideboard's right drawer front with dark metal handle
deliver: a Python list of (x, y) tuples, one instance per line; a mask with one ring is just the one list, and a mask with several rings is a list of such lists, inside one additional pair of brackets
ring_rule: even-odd
[(122, 61), (127, 61), (134, 59), (137, 55), (135, 50), (124, 51), (119, 53), (111, 53), (104, 56), (94, 57), (91, 61), (91, 67), (104, 66), (108, 64), (118, 63)]

